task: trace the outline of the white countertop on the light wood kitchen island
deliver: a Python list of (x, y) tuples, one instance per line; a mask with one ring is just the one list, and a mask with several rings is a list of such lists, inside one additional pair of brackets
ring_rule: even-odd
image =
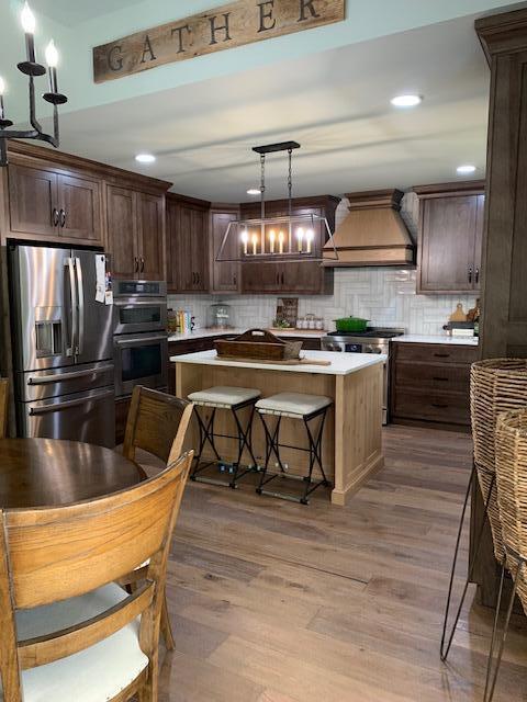
[(218, 359), (215, 351), (200, 351), (172, 355), (172, 363), (195, 363), (198, 365), (226, 365), (238, 369), (261, 369), (264, 371), (289, 371), (291, 373), (319, 373), (323, 375), (349, 375), (369, 365), (384, 363), (386, 356), (382, 353), (339, 353), (334, 351), (305, 351), (304, 358), (314, 361), (330, 361), (330, 365), (283, 365), (281, 363), (258, 363), (250, 361), (225, 361)]

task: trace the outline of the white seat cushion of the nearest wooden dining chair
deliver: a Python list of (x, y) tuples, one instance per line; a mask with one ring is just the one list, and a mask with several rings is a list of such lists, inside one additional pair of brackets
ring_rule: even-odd
[[(16, 612), (19, 641), (74, 626), (127, 597), (115, 584), (82, 597)], [(72, 656), (22, 672), (24, 702), (103, 702), (124, 690), (148, 666), (141, 650), (139, 622)], [(0, 689), (0, 700), (3, 693)]]

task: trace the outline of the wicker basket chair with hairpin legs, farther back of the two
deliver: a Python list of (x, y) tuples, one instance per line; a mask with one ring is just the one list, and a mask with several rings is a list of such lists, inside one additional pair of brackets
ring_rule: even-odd
[(485, 512), (491, 524), (494, 555), (498, 563), (503, 564), (505, 562), (502, 524), (497, 507), (495, 433), (500, 415), (504, 411), (519, 408), (527, 408), (527, 359), (487, 359), (472, 364), (470, 372), (470, 411), (474, 441), (474, 461), (461, 511), (450, 574), (440, 645), (441, 660), (446, 660), (448, 657), (467, 597), (468, 587), (472, 580), (481, 537), (483, 535), (484, 524), (482, 524), (475, 537), (474, 553), (472, 561), (469, 563), (464, 588), (458, 609), (456, 610), (450, 633), (447, 635), (456, 565), (461, 543), (464, 516), (474, 479), (478, 479), (480, 484), (485, 503)]

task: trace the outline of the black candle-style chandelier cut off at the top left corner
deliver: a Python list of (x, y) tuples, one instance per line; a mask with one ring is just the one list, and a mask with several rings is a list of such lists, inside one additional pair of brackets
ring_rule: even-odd
[(27, 76), (30, 83), (30, 124), (32, 128), (25, 131), (9, 129), (9, 127), (13, 126), (13, 123), (11, 120), (8, 120), (5, 117), (3, 98), (5, 83), (0, 77), (0, 166), (8, 165), (8, 139), (38, 139), (41, 141), (46, 141), (54, 147), (58, 147), (58, 105), (61, 105), (68, 101), (66, 95), (63, 95), (58, 92), (58, 52), (52, 39), (45, 50), (48, 69), (49, 91), (45, 92), (42, 97), (46, 102), (49, 102), (53, 105), (53, 136), (51, 134), (45, 134), (36, 118), (35, 78), (44, 76), (46, 73), (46, 68), (38, 64), (36, 60), (34, 39), (36, 22), (35, 15), (31, 11), (27, 2), (23, 7), (20, 19), (22, 21), (22, 27), (25, 33), (26, 57), (25, 61), (21, 61), (20, 64), (18, 64), (18, 69), (22, 73)]

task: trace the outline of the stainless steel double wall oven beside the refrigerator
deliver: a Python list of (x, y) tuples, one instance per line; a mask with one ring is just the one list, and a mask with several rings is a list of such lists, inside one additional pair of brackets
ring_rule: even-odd
[(167, 287), (158, 281), (114, 283), (115, 395), (168, 384)]

